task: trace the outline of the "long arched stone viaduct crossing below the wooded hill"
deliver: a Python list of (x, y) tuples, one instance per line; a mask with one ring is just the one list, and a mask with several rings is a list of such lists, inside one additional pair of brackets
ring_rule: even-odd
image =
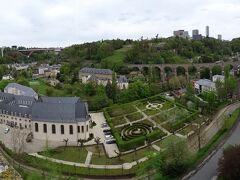
[(232, 65), (233, 69), (237, 71), (238, 65), (240, 65), (240, 61), (199, 63), (199, 64), (193, 64), (193, 63), (192, 64), (191, 63), (189, 64), (130, 64), (128, 65), (128, 67), (141, 72), (148, 71), (150, 67), (154, 68), (154, 70), (157, 70), (157, 72), (159, 73), (157, 75), (160, 76), (161, 81), (165, 81), (169, 74), (177, 76), (179, 69), (182, 69), (182, 71), (184, 72), (184, 75), (188, 79), (190, 69), (195, 69), (196, 70), (195, 74), (197, 74), (197, 77), (200, 78), (201, 70), (207, 68), (210, 71), (210, 78), (211, 78), (212, 68), (214, 66), (221, 67), (221, 70), (222, 70), (221, 74), (224, 74), (224, 66), (228, 64)]

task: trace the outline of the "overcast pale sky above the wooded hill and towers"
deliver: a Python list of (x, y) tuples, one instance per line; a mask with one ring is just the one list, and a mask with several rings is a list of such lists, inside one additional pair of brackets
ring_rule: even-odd
[(0, 0), (0, 46), (66, 47), (102, 39), (240, 37), (240, 0)]

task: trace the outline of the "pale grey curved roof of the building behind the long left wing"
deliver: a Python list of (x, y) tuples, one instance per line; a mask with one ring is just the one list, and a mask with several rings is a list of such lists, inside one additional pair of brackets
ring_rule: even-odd
[(21, 91), (21, 95), (23, 96), (31, 96), (35, 97), (38, 94), (30, 87), (23, 86), (17, 83), (9, 83), (5, 88), (4, 91), (7, 91), (8, 88), (16, 88)]

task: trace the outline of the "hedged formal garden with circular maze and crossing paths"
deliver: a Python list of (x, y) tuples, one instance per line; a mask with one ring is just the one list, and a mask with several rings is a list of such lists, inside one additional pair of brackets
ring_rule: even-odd
[(105, 108), (104, 115), (119, 149), (127, 151), (143, 146), (146, 142), (161, 139), (167, 132), (172, 133), (184, 127), (195, 119), (197, 112), (157, 95)]

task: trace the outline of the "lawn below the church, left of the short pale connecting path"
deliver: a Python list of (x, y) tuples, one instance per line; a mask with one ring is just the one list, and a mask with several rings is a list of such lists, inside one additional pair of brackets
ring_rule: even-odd
[(87, 150), (79, 147), (61, 147), (49, 151), (40, 152), (39, 154), (51, 157), (54, 159), (61, 159), (64, 161), (85, 163), (87, 157)]

